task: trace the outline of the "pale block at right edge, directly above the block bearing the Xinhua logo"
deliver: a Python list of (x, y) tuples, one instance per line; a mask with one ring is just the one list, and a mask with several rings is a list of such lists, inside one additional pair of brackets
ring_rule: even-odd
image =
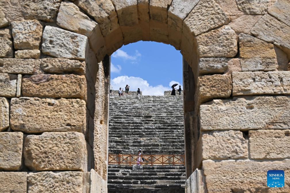
[[(249, 145), (252, 159), (289, 159), (290, 130), (250, 130)], [(269, 145), (275, 144), (275, 145)]]

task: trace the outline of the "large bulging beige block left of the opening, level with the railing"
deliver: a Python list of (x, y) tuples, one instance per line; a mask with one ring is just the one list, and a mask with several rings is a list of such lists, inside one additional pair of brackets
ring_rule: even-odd
[(32, 170), (86, 170), (87, 150), (84, 134), (45, 132), (24, 140), (25, 165)]

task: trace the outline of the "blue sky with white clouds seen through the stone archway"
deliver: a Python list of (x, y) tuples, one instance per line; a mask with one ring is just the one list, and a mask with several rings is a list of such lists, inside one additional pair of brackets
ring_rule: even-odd
[(128, 84), (131, 91), (140, 88), (143, 95), (163, 95), (174, 83), (182, 86), (182, 55), (171, 45), (139, 41), (121, 47), (111, 56), (114, 90), (125, 90)]

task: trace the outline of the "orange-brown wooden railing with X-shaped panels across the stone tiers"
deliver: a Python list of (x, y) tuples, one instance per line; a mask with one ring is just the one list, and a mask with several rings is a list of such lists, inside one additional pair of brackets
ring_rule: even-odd
[[(108, 164), (112, 165), (184, 165), (184, 155), (138, 155), (109, 154)], [(143, 159), (142, 159), (143, 158)]]

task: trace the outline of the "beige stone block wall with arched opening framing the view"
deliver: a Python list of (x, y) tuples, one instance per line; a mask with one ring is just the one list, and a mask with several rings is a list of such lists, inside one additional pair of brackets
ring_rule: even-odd
[[(1, 0), (0, 190), (107, 191), (109, 56), (143, 40), (184, 57), (186, 192), (290, 192), (289, 10), (288, 0)], [(267, 170), (284, 170), (285, 186), (268, 188)]]

